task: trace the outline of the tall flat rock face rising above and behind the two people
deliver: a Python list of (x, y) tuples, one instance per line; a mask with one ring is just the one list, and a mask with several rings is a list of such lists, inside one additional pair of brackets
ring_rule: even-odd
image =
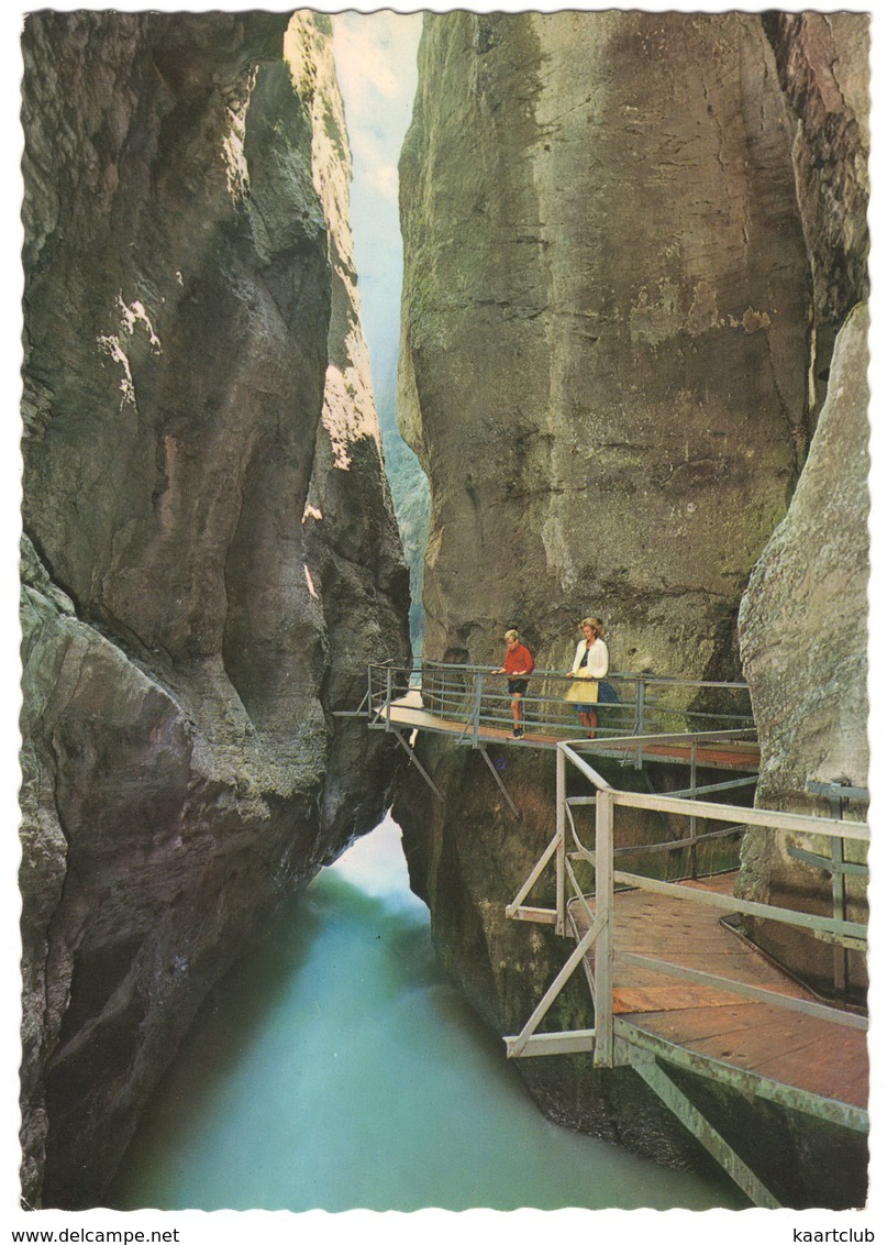
[(773, 50), (741, 14), (429, 16), (402, 157), (401, 418), (427, 651), (738, 674), (807, 437), (811, 291)]

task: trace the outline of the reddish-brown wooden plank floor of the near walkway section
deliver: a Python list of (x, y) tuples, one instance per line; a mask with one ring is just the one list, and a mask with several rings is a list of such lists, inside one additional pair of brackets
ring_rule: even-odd
[[(733, 894), (734, 879), (735, 874), (725, 874), (684, 885)], [(593, 911), (593, 898), (587, 903)], [(570, 918), (578, 939), (588, 921), (577, 900), (570, 906)], [(824, 1101), (817, 1114), (829, 1116), (827, 1102), (866, 1109), (865, 1032), (620, 961), (620, 952), (632, 952), (816, 1001), (727, 929), (715, 911), (667, 895), (628, 890), (615, 895), (615, 919), (613, 1010), (618, 1030), (629, 1042), (643, 1046), (648, 1038), (647, 1048), (661, 1046), (666, 1058), (668, 1048), (679, 1050), (704, 1061), (709, 1069), (739, 1069), (774, 1086), (814, 1094)], [(676, 1062), (688, 1066), (685, 1058)], [(773, 1092), (766, 1096), (780, 1097)]]

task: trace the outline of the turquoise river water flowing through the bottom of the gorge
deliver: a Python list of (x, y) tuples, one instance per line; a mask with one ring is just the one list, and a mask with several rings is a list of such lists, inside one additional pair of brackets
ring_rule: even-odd
[(389, 819), (216, 987), (127, 1152), (121, 1210), (739, 1208), (549, 1123), (448, 984)]

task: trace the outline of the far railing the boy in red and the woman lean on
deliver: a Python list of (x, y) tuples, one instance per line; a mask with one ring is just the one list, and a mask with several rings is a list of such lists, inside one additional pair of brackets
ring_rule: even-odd
[[(743, 682), (622, 672), (607, 675), (605, 682), (618, 698), (598, 700), (597, 737), (633, 737), (638, 764), (638, 736), (717, 730), (740, 736), (754, 731), (749, 691)], [(522, 697), (525, 731), (559, 740), (585, 737), (576, 705), (566, 700), (577, 684), (581, 681), (562, 670), (535, 670)], [(513, 725), (508, 676), (493, 674), (488, 666), (422, 661), (409, 667), (368, 667), (365, 705), (371, 718), (391, 726), (392, 707), (403, 706), (409, 693), (413, 698), (420, 696), (414, 707), (460, 725), (460, 738), (475, 747), (484, 730), (510, 730)]]

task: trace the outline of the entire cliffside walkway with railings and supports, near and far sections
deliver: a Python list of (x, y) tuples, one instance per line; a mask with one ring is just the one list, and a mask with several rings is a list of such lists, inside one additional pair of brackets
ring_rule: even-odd
[[(575, 712), (557, 688), (556, 680), (564, 676), (542, 672), (554, 684), (545, 684), (539, 696), (525, 697), (525, 733), (516, 740), (509, 697), (491, 690), (489, 674), (425, 665), (416, 686), (416, 672), (371, 667), (362, 711), (371, 728), (394, 732), (440, 799), (412, 748), (414, 732), (449, 736), (479, 749), (516, 817), (520, 813), (486, 753), (488, 745), (556, 751), (555, 835), (505, 914), (550, 924), (574, 946), (524, 1028), (505, 1038), (509, 1057), (587, 1052), (597, 1068), (633, 1068), (755, 1205), (779, 1205), (753, 1170), (754, 1155), (743, 1158), (731, 1148), (673, 1072), (720, 1083), (739, 1093), (740, 1104), (763, 1098), (857, 1135), (867, 1132), (867, 1017), (840, 1001), (848, 956), (866, 949), (866, 925), (847, 919), (846, 886), (853, 876), (867, 876), (860, 853), (871, 837), (863, 820), (843, 819), (843, 807), (856, 810), (867, 792), (836, 783), (820, 791), (821, 784), (811, 783), (811, 792), (829, 796), (830, 818), (700, 798), (756, 782), (760, 753), (754, 722), (741, 703), (730, 702), (748, 693), (744, 685), (611, 676), (622, 680), (622, 702), (605, 710), (603, 728), (588, 740), (577, 731)], [(692, 710), (688, 705), (693, 703), (709, 707)], [(633, 762), (637, 769), (651, 761), (687, 766), (689, 786), (669, 793), (620, 791), (590, 763), (593, 756), (607, 754)], [(699, 769), (735, 773), (700, 786)], [(576, 774), (587, 782), (587, 794), (576, 794)], [(593, 847), (577, 832), (580, 806), (593, 810)], [(615, 819), (632, 808), (666, 814), (669, 824), (684, 818), (688, 829), (683, 838), (618, 845)], [(751, 827), (768, 835), (787, 835), (790, 857), (831, 875), (831, 916), (736, 898), (734, 874), (664, 881), (627, 872), (621, 864), (625, 857), (646, 859), (651, 853), (688, 847), (695, 873), (699, 844)], [(799, 838), (809, 845), (795, 845)], [(827, 854), (821, 854), (824, 842)], [(851, 858), (846, 847), (852, 849)], [(595, 879), (591, 895), (588, 865)], [(551, 898), (534, 905), (530, 896), (550, 870), (555, 874), (554, 906)], [(770, 961), (730, 928), (736, 918), (787, 924), (797, 934), (831, 944), (838, 1001), (822, 1002)], [(545, 1031), (545, 1017), (580, 966), (593, 1002), (593, 1028)]]

